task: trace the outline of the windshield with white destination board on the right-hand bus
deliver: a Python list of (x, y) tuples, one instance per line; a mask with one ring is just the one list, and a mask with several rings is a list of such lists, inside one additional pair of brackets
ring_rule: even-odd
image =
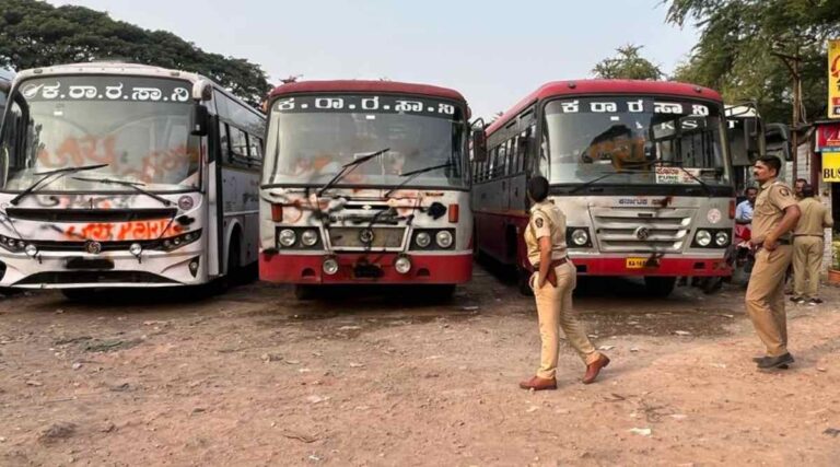
[(540, 171), (552, 184), (730, 185), (719, 106), (658, 97), (546, 105)]

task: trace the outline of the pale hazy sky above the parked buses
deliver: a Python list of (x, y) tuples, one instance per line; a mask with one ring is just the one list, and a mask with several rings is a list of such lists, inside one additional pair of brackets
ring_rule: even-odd
[(697, 42), (663, 0), (74, 0), (206, 51), (258, 63), (272, 83), (381, 79), (452, 87), (474, 116), (548, 81), (584, 79), (626, 44), (665, 73)]

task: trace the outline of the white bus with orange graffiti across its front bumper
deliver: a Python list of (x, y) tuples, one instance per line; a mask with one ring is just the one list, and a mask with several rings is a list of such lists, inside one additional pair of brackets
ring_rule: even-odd
[(256, 266), (259, 112), (201, 75), (116, 62), (22, 71), (7, 91), (0, 287), (80, 296)]

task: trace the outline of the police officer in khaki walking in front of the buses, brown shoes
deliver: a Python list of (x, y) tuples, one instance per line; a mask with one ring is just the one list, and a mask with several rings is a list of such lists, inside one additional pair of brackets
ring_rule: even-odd
[(540, 364), (536, 376), (520, 383), (523, 389), (556, 389), (559, 327), (569, 343), (586, 364), (584, 384), (595, 382), (609, 359), (595, 350), (583, 325), (572, 310), (572, 291), (578, 272), (565, 252), (565, 215), (547, 200), (548, 180), (535, 177), (528, 182), (528, 198), (533, 202), (530, 219), (525, 229), (528, 261), (535, 272), (530, 287), (537, 300), (539, 337), (542, 340)]

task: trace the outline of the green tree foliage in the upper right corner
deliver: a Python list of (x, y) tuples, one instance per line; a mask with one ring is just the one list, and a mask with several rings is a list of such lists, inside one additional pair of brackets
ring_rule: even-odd
[(728, 103), (756, 100), (768, 121), (791, 121), (798, 58), (805, 116), (826, 117), (827, 39), (840, 37), (837, 0), (664, 0), (667, 21), (692, 21), (700, 40), (674, 79), (723, 93)]

